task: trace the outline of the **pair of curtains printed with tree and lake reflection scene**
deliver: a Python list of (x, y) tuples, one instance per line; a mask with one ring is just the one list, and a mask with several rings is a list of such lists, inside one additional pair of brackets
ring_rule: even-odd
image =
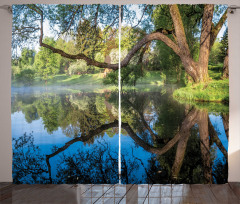
[(14, 183), (227, 182), (226, 5), (14, 5), (11, 62)]

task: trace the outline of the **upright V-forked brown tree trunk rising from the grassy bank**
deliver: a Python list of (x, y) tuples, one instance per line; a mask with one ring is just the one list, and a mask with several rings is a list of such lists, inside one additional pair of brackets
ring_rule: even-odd
[(210, 38), (212, 30), (214, 5), (206, 4), (202, 18), (202, 29), (200, 38), (200, 51), (198, 62), (194, 62), (188, 47), (182, 18), (177, 5), (170, 6), (173, 19), (177, 44), (181, 50), (180, 58), (186, 72), (193, 78), (195, 83), (208, 81), (208, 60), (210, 53)]

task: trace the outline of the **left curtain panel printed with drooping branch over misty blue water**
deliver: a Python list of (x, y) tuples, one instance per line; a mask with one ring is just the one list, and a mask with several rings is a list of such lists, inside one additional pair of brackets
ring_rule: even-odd
[(14, 183), (119, 182), (118, 25), (116, 5), (13, 6)]

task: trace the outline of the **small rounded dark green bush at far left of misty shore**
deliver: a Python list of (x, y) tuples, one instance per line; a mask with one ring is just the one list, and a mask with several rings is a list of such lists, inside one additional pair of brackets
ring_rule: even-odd
[(35, 72), (32, 69), (23, 69), (16, 74), (16, 80), (23, 83), (25, 86), (33, 84), (35, 78)]

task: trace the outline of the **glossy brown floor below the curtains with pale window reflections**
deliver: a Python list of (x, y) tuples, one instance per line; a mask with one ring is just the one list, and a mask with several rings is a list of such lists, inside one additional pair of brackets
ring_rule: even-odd
[(14, 185), (0, 183), (0, 203), (240, 203), (240, 183), (222, 185)]

